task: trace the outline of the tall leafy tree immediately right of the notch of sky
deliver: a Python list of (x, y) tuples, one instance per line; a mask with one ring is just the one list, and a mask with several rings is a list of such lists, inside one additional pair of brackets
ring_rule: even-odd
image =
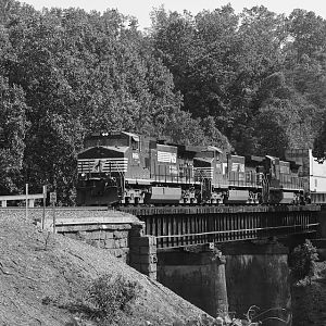
[(184, 110), (195, 118), (226, 116), (229, 52), (238, 24), (233, 9), (203, 11), (196, 17), (162, 8), (152, 14), (152, 42), (184, 96)]

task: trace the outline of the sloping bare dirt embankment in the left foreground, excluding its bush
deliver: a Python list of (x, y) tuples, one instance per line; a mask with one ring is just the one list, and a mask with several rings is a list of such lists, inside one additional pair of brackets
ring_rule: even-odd
[(22, 216), (0, 216), (0, 325), (97, 325), (83, 302), (92, 279), (123, 274), (141, 287), (121, 325), (165, 325), (202, 311), (97, 249), (39, 231)]

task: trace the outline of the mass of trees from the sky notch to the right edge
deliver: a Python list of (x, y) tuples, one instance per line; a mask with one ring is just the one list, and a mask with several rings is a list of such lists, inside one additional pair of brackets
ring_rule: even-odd
[(288, 147), (312, 147), (322, 127), (325, 26), (304, 10), (236, 15), (226, 5), (193, 17), (160, 8), (151, 38), (184, 110), (213, 116), (238, 152), (283, 156)]

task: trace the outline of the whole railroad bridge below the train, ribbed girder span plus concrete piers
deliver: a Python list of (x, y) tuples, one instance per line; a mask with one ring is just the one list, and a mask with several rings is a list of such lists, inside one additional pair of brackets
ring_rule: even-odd
[[(272, 323), (264, 325), (285, 325), (275, 317), (291, 325), (289, 249), (275, 238), (293, 246), (298, 238), (317, 237), (319, 206), (164, 206), (122, 211), (138, 216), (145, 224), (145, 234), (155, 239), (155, 249), (149, 241), (148, 250), (140, 247), (140, 255), (136, 254), (134, 262), (131, 252), (131, 266), (148, 275), (154, 271), (160, 283), (211, 315), (223, 310), (241, 315), (250, 305), (262, 310), (281, 308), (265, 315)], [(145, 269), (143, 262), (148, 263)]]

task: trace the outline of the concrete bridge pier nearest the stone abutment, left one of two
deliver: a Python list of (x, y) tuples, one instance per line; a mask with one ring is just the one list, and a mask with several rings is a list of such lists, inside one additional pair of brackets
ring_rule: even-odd
[(216, 249), (158, 252), (158, 280), (212, 316), (228, 310), (225, 260)]

